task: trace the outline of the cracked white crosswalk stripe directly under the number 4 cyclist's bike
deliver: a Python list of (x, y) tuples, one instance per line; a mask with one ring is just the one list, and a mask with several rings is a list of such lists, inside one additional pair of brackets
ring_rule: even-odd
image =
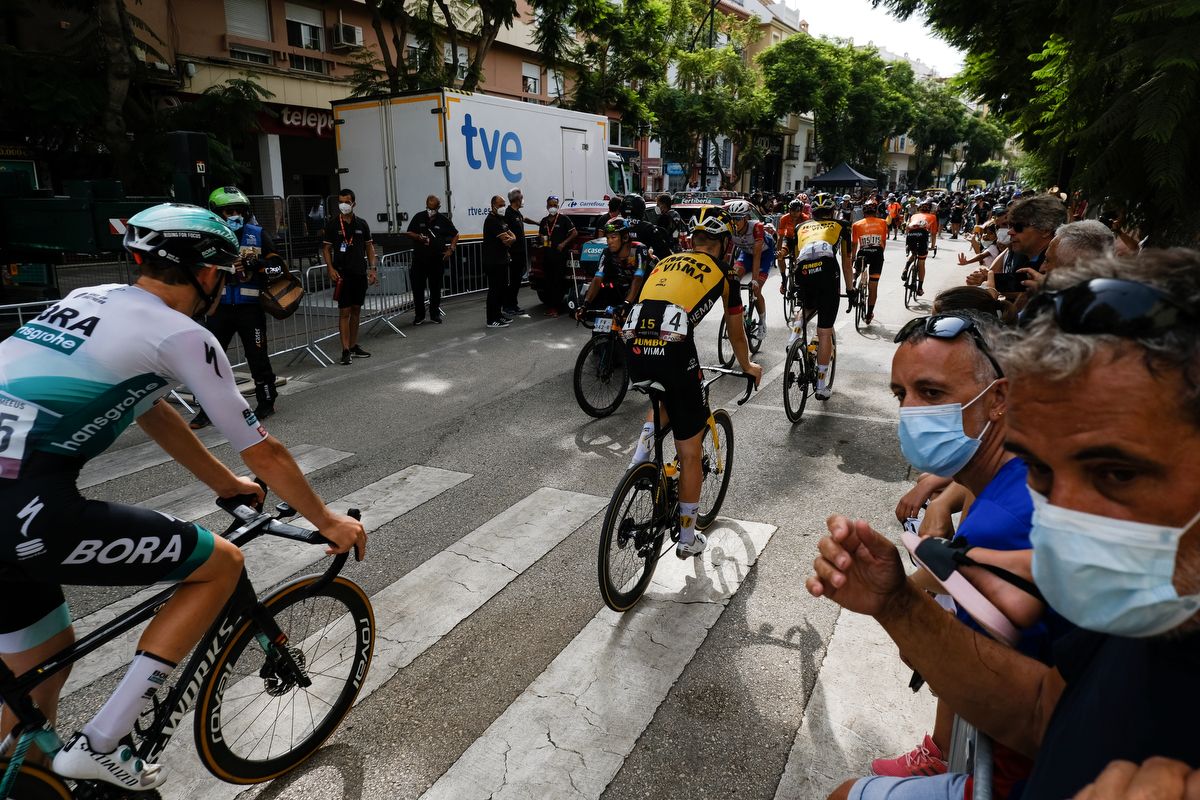
[(721, 521), (700, 560), (659, 561), (641, 603), (596, 614), (422, 800), (599, 798), (774, 531)]

